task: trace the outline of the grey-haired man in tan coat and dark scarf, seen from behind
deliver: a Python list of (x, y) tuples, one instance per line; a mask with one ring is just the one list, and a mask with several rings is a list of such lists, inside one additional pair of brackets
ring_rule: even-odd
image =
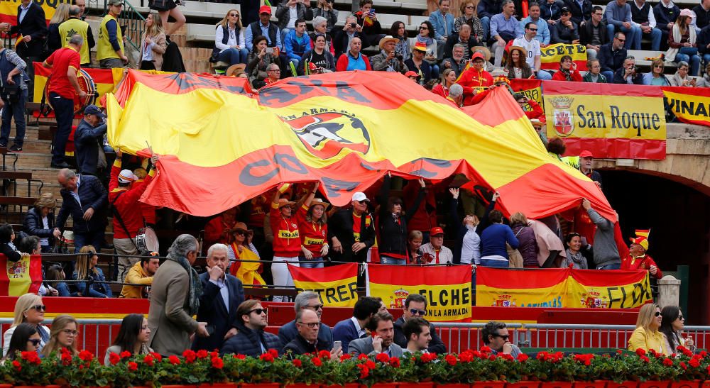
[(151, 348), (161, 355), (181, 355), (190, 348), (193, 334), (207, 337), (207, 322), (192, 316), (200, 307), (202, 284), (192, 265), (200, 244), (189, 234), (178, 235), (168, 249), (168, 257), (153, 276), (148, 326)]

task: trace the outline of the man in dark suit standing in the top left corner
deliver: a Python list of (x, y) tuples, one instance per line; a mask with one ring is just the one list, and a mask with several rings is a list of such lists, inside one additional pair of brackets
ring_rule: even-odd
[(44, 59), (42, 50), (48, 35), (44, 10), (33, 0), (21, 0), (17, 7), (17, 24), (11, 26), (10, 23), (3, 23), (0, 31), (22, 35), (22, 42), (17, 45), (17, 55), (27, 64), (27, 74), (30, 77), (28, 95), (32, 101), (35, 79), (32, 62), (41, 62)]

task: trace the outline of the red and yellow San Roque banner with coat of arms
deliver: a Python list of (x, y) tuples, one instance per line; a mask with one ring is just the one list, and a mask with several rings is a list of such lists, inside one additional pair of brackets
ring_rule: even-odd
[(565, 155), (665, 159), (660, 87), (545, 81), (547, 138), (564, 138)]

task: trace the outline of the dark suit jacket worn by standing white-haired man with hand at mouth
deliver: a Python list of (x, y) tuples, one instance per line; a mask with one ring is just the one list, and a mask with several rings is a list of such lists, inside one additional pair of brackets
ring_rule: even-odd
[(236, 315), (236, 308), (244, 301), (244, 287), (241, 280), (226, 274), (226, 288), (229, 292), (229, 312), (224, 306), (224, 300), (217, 284), (209, 281), (209, 273), (200, 274), (202, 295), (200, 295), (200, 309), (197, 311), (197, 321), (207, 322), (207, 327), (212, 326), (214, 332), (209, 337), (195, 336), (192, 350), (215, 350), (222, 348), (224, 335), (231, 328), (236, 328), (240, 317)]

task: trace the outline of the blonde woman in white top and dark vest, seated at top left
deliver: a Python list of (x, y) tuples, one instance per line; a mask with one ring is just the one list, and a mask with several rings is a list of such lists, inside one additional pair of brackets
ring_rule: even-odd
[(217, 30), (214, 31), (214, 50), (212, 50), (212, 62), (229, 62), (229, 65), (246, 63), (246, 42), (244, 40), (244, 28), (241, 26), (239, 11), (230, 9), (222, 21), (217, 23)]

